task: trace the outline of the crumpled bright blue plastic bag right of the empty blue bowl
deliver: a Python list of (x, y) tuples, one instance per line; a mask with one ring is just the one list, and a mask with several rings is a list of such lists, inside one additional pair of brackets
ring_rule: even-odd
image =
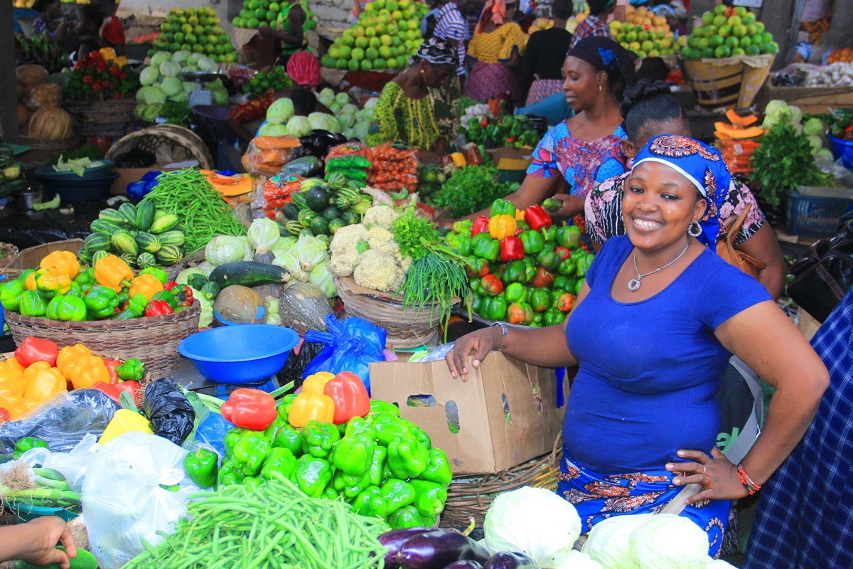
[(386, 330), (362, 318), (347, 318), (340, 322), (329, 314), (325, 319), (328, 332), (309, 330), (306, 342), (320, 342), (326, 347), (305, 368), (303, 378), (318, 371), (339, 374), (348, 371), (356, 374), (370, 392), (370, 363), (384, 362)]

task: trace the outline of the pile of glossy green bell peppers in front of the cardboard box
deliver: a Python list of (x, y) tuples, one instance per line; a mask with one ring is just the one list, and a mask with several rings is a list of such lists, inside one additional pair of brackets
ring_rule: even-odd
[[(225, 434), (218, 485), (254, 485), (281, 473), (308, 496), (343, 499), (357, 514), (380, 517), (392, 528), (436, 523), (452, 479), (450, 462), (396, 405), (372, 400), (365, 417), (340, 425), (308, 421), (296, 429), (287, 421), (293, 398), (284, 399), (265, 431), (235, 427)], [(215, 467), (215, 461), (194, 464), (194, 474), (212, 479)]]

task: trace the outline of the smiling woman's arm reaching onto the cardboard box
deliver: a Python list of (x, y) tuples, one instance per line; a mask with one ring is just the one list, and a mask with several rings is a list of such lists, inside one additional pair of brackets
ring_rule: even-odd
[[(589, 294), (589, 285), (583, 282), (572, 311), (580, 305), (587, 294)], [(471, 367), (477, 369), (492, 350), (501, 351), (510, 357), (541, 368), (575, 366), (577, 358), (566, 342), (566, 326), (571, 317), (570, 314), (561, 324), (545, 328), (508, 328), (506, 336), (497, 326), (481, 328), (456, 340), (453, 351), (450, 351), (444, 360), (447, 362), (450, 374), (455, 378), (461, 377), (463, 381), (468, 380), (470, 373), (468, 356), (473, 354)]]

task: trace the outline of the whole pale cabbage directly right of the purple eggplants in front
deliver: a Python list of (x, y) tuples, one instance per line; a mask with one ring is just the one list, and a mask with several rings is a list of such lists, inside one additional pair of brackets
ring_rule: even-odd
[(522, 486), (495, 498), (483, 532), (490, 553), (523, 553), (550, 567), (555, 557), (572, 550), (581, 535), (581, 519), (575, 507), (553, 491)]

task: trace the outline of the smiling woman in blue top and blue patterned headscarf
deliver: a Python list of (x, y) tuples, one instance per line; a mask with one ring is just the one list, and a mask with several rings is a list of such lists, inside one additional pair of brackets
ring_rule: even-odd
[[(653, 138), (624, 192), (625, 235), (596, 255), (572, 315), (541, 329), (478, 330), (447, 356), (463, 379), (492, 349), (579, 366), (559, 492), (584, 531), (616, 515), (659, 513), (683, 485), (698, 484), (681, 515), (708, 533), (716, 555), (729, 501), (769, 479), (827, 387), (826, 367), (767, 290), (697, 239), (717, 235), (728, 182), (716, 149)], [(715, 444), (715, 393), (732, 353), (776, 389), (763, 433), (738, 465)]]

